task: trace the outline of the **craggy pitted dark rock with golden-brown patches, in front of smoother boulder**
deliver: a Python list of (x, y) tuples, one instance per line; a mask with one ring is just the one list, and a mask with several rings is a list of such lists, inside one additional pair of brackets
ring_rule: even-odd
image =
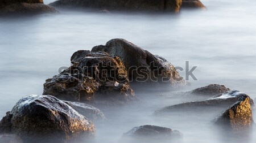
[(73, 66), (44, 84), (44, 93), (68, 101), (112, 99), (133, 101), (127, 71), (118, 57), (105, 52), (80, 50), (71, 57)]

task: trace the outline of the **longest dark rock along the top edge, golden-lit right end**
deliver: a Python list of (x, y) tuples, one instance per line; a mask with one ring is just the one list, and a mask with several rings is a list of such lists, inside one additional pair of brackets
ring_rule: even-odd
[(86, 8), (128, 12), (179, 12), (181, 0), (59, 0), (50, 3), (54, 7)]

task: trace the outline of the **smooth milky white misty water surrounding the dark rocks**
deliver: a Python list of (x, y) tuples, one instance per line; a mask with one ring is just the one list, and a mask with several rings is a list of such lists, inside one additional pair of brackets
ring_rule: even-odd
[[(185, 68), (185, 61), (190, 68), (197, 66), (197, 80), (190, 77), (191, 86), (182, 90), (223, 84), (254, 99), (256, 2), (202, 2), (208, 10), (182, 10), (177, 15), (61, 11), (0, 19), (0, 117), (21, 97), (42, 94), (45, 80), (57, 75), (59, 67), (69, 67), (75, 51), (105, 45), (112, 38), (125, 38), (174, 66)], [(96, 123), (96, 137), (90, 142), (123, 142), (124, 132), (144, 124), (177, 129), (184, 135), (181, 142), (256, 142), (255, 126), (238, 135), (214, 127), (212, 120), (224, 109), (152, 115), (167, 105), (199, 100), (175, 96), (168, 89), (153, 90), (135, 93), (139, 103), (105, 109), (108, 120)]]

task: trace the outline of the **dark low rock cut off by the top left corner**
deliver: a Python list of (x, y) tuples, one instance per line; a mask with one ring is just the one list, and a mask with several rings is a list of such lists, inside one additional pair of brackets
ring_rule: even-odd
[(54, 13), (57, 10), (43, 4), (43, 0), (3, 0), (0, 2), (0, 15), (38, 15)]

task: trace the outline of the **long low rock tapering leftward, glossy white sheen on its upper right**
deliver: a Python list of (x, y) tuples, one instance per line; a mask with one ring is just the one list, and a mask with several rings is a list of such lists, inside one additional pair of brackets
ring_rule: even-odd
[[(247, 96), (247, 94), (241, 93), (238, 90), (230, 90), (229, 92), (220, 94), (220, 96), (216, 96), (204, 101), (185, 102), (177, 105), (167, 106), (155, 111), (155, 114), (172, 111), (212, 111), (214, 108), (226, 109), (227, 107), (233, 105), (233, 103), (236, 103), (238, 99), (245, 96)], [(250, 104), (252, 107), (255, 107), (252, 99), (250, 99)]]

